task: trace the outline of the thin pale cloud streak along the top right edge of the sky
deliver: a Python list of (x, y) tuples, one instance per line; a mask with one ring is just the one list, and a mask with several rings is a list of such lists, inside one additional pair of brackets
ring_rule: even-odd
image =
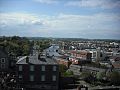
[(119, 0), (76, 0), (69, 1), (66, 6), (91, 7), (91, 8), (120, 8)]

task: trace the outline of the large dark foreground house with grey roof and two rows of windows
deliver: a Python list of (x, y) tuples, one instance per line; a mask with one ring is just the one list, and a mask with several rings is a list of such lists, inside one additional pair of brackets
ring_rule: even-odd
[(24, 56), (16, 64), (18, 86), (26, 90), (59, 89), (59, 66), (53, 58)]

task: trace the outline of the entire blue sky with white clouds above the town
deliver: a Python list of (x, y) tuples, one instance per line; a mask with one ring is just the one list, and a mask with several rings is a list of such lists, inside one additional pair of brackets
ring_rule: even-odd
[(120, 0), (0, 0), (0, 36), (120, 39)]

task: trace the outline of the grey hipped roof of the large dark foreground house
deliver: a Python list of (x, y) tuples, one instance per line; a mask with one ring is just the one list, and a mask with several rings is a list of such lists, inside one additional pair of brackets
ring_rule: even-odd
[(28, 56), (29, 57), (29, 63), (26, 63), (26, 57), (24, 56), (20, 58), (16, 64), (51, 64), (51, 65), (57, 65), (57, 61), (52, 58), (47, 58), (45, 56), (42, 56), (40, 59), (38, 59), (37, 56)]

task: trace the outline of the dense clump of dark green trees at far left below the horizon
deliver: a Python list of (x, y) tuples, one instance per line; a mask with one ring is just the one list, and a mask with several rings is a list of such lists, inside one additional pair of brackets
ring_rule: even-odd
[(32, 47), (30, 41), (23, 37), (3, 37), (0, 41), (0, 48), (14, 56), (29, 55), (30, 47)]

